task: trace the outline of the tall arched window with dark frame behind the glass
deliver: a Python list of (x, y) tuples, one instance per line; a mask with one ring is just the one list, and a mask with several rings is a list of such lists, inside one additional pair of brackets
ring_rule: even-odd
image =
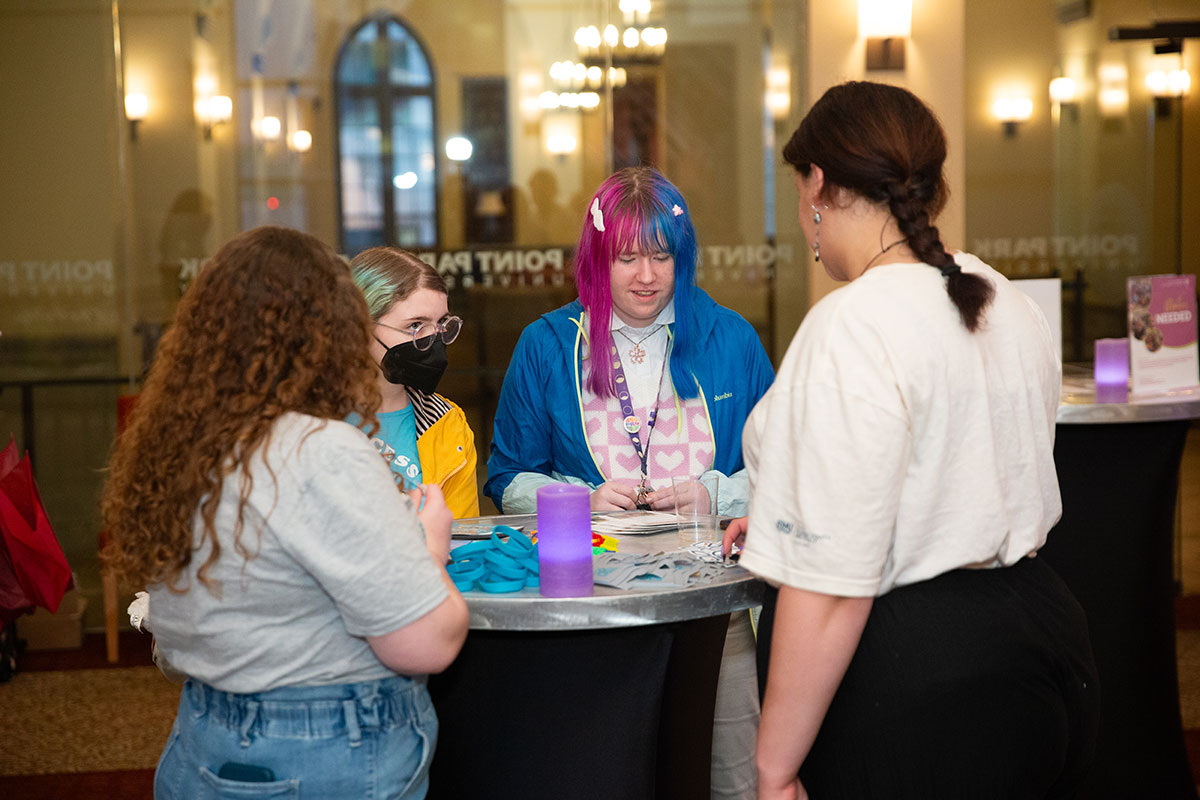
[(425, 47), (395, 17), (367, 19), (342, 44), (334, 97), (343, 253), (436, 246), (433, 89)]

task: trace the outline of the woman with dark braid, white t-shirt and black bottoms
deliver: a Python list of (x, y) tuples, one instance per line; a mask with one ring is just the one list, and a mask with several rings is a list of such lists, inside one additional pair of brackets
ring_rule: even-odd
[(743, 434), (750, 516), (726, 548), (779, 587), (758, 796), (1073, 796), (1098, 685), (1084, 613), (1034, 558), (1062, 512), (1046, 320), (942, 243), (946, 137), (911, 92), (834, 86), (784, 158), (847, 285)]

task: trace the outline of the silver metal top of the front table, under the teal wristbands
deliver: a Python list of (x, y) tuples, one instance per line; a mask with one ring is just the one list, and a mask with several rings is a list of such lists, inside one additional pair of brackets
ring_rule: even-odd
[[(474, 517), (456, 521), (470, 527), (480, 523), (538, 527), (536, 515)], [(653, 535), (617, 536), (620, 553), (659, 553), (679, 549), (674, 531)], [(763, 584), (739, 566), (724, 570), (715, 581), (683, 589), (626, 591), (595, 587), (590, 597), (542, 597), (536, 589), (509, 594), (468, 591), (473, 631), (584, 631), (679, 622), (728, 614), (762, 602)]]

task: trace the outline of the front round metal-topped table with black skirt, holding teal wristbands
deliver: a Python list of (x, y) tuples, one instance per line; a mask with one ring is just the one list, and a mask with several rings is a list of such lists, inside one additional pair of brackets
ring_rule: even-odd
[[(536, 527), (532, 515), (484, 519)], [(618, 540), (622, 553), (679, 548), (676, 533)], [(467, 643), (430, 678), (440, 733), (428, 796), (707, 798), (728, 615), (761, 593), (740, 567), (684, 589), (467, 593)]]

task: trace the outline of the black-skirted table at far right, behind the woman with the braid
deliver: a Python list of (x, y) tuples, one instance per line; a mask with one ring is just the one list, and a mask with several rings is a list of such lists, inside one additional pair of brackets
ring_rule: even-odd
[(1100, 734), (1080, 798), (1194, 800), (1180, 720), (1172, 545), (1180, 461), (1200, 391), (1096, 403), (1064, 369), (1055, 464), (1062, 519), (1040, 551), (1087, 613)]

